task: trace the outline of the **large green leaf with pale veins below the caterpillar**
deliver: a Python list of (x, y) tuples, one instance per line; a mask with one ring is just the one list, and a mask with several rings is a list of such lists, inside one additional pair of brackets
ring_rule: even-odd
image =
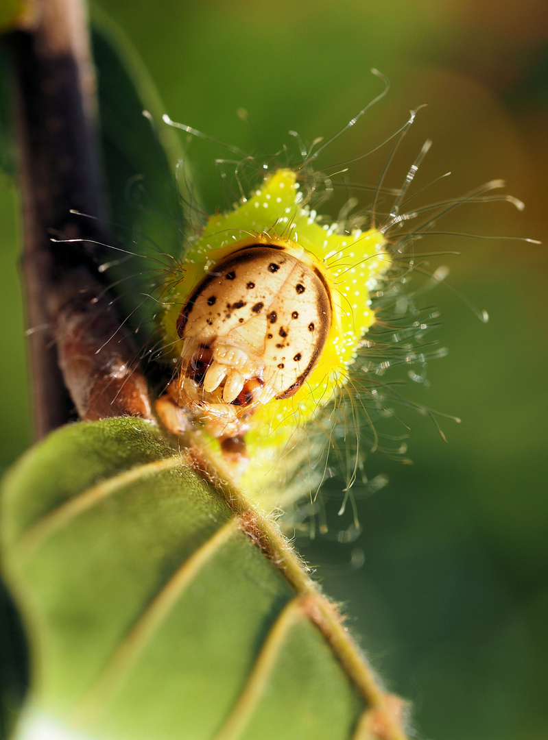
[(116, 740), (352, 737), (379, 692), (351, 677), (330, 605), (246, 506), (142, 420), (61, 428), (16, 464), (1, 536), (33, 721)]

